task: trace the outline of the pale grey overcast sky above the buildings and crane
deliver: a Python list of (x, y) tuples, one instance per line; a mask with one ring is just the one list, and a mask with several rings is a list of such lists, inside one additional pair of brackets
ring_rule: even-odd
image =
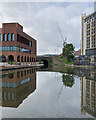
[(24, 32), (37, 40), (37, 53), (61, 53), (62, 38), (80, 48), (81, 14), (92, 13), (92, 2), (8, 2), (0, 3), (0, 27), (3, 22), (19, 22)]

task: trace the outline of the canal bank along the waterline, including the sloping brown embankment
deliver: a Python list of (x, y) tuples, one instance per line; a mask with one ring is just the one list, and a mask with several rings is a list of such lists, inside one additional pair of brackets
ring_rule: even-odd
[[(0, 67), (0, 71), (5, 71), (5, 70), (14, 70), (14, 69), (23, 69), (23, 68), (31, 68), (31, 67), (41, 67), (43, 69), (46, 68), (46, 70), (52, 70), (52, 71), (62, 71), (65, 67), (70, 67), (70, 68), (87, 68), (87, 69), (95, 69), (94, 64), (76, 64), (76, 61), (74, 64), (66, 64), (63, 60), (60, 60), (58, 56), (53, 56), (50, 58), (45, 58), (47, 61), (46, 63), (39, 64), (37, 62), (36, 64), (21, 64), (21, 65), (5, 65)], [(46, 65), (47, 64), (47, 65)], [(46, 67), (47, 66), (47, 67)]]

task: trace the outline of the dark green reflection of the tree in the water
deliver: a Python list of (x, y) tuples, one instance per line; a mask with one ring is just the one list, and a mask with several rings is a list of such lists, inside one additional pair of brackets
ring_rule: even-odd
[(63, 75), (62, 81), (66, 87), (72, 87), (75, 84), (74, 77), (71, 75)]

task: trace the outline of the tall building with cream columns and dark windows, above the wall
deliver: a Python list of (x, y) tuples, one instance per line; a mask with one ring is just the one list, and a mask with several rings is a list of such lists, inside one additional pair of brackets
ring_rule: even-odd
[(96, 55), (96, 2), (94, 12), (81, 17), (81, 55)]

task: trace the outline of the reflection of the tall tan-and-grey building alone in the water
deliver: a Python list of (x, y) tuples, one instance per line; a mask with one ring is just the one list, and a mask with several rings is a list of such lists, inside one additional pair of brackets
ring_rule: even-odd
[(81, 112), (96, 117), (96, 81), (81, 78)]

